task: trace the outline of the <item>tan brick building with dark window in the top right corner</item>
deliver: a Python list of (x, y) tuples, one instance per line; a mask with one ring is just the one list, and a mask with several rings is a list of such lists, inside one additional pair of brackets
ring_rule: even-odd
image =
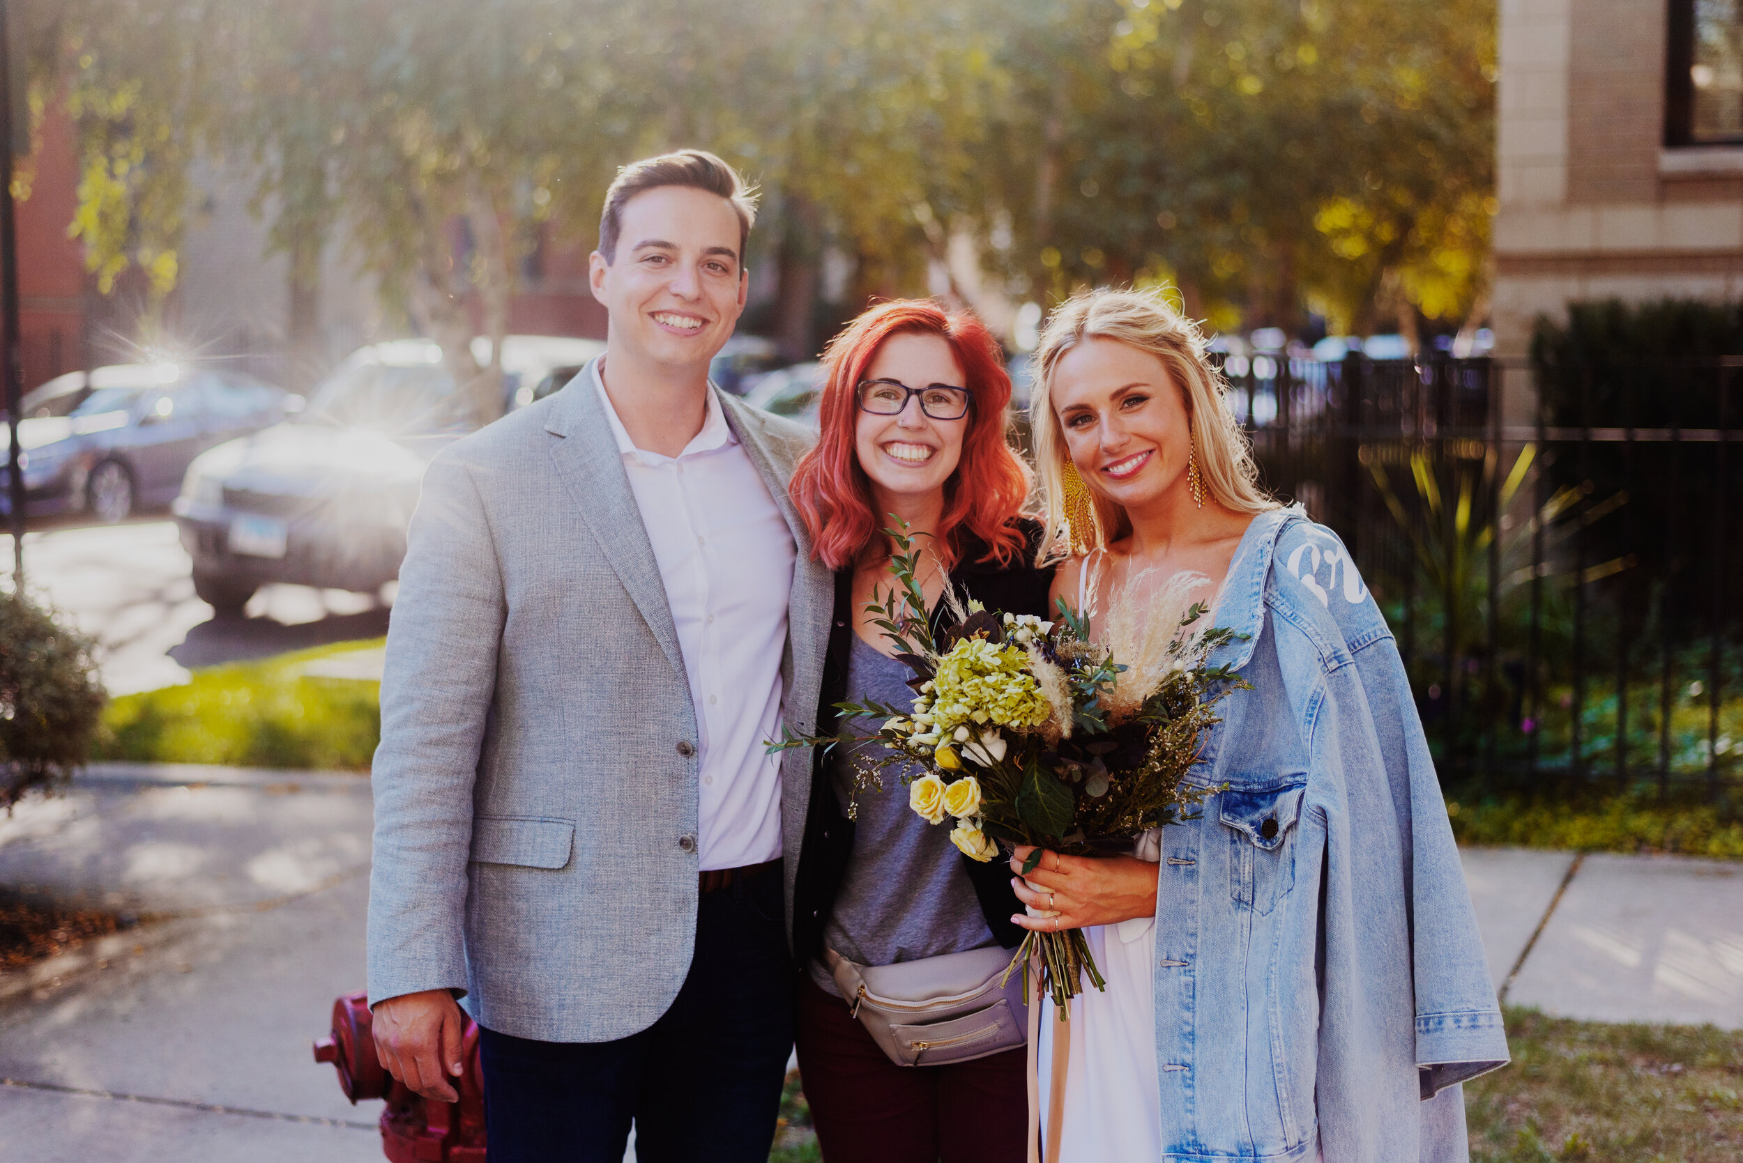
[(1570, 299), (1743, 298), (1743, 0), (1501, 0), (1497, 352)]

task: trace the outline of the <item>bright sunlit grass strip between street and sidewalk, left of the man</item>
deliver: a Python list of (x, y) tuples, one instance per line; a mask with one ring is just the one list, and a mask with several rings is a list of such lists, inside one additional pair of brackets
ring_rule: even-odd
[(103, 712), (92, 759), (368, 771), (382, 735), (380, 684), (302, 669), (378, 644), (209, 667), (181, 686), (122, 695)]

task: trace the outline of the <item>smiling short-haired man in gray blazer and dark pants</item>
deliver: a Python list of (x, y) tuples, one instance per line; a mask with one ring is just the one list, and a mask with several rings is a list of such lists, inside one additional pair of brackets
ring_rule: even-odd
[[(685, 150), (605, 197), (607, 352), (443, 451), (387, 635), (370, 1005), (450, 1100), (464, 999), (492, 1163), (767, 1158), (831, 608), (809, 435), (708, 381), (755, 214)], [(784, 865), (783, 865), (784, 857)], [(784, 867), (784, 872), (783, 872)]]

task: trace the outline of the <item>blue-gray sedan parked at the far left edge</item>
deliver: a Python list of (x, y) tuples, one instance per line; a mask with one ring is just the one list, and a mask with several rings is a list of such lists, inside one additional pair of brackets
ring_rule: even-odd
[[(24, 510), (124, 521), (174, 500), (195, 456), (282, 421), (302, 397), (232, 371), (117, 364), (56, 376), (23, 399)], [(0, 491), (0, 514), (10, 498)]]

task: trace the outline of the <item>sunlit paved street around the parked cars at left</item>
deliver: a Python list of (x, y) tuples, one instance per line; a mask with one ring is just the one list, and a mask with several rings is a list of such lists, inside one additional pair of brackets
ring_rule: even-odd
[[(10, 573), (10, 536), (0, 536), (0, 568)], [(173, 521), (24, 534), (26, 588), (98, 639), (112, 695), (183, 682), (190, 667), (387, 634), (373, 597), (305, 585), (265, 587), (244, 618), (214, 618), (190, 569)]]

